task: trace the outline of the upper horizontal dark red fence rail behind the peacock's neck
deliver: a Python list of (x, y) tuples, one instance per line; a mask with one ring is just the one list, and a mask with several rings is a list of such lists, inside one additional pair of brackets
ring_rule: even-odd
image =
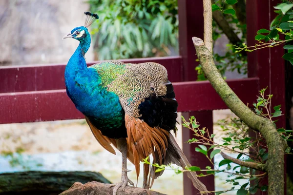
[[(122, 59), (125, 63), (156, 62), (164, 65), (171, 82), (182, 80), (182, 58), (161, 57)], [(88, 66), (101, 61), (89, 62)], [(0, 67), (0, 93), (65, 89), (64, 70), (66, 64), (21, 65)]]

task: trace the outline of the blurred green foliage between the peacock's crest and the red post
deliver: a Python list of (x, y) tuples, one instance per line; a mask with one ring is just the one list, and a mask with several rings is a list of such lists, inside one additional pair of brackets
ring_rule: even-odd
[(177, 0), (89, 0), (96, 59), (178, 54)]

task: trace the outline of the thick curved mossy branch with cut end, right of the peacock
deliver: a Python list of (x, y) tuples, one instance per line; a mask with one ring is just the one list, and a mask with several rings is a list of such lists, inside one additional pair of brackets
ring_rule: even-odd
[(266, 139), (269, 148), (269, 156), (266, 162), (269, 177), (269, 195), (283, 195), (286, 141), (280, 137), (270, 120), (253, 113), (231, 90), (216, 68), (213, 56), (203, 40), (195, 37), (192, 40), (202, 69), (213, 88), (237, 117), (252, 129), (258, 130)]

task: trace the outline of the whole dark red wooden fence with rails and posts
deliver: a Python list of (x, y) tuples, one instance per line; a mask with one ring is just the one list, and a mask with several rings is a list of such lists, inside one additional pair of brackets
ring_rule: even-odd
[[(258, 29), (269, 29), (273, 19), (274, 0), (247, 0), (248, 45), (254, 44)], [(170, 81), (174, 82), (178, 112), (183, 116), (195, 116), (202, 126), (212, 132), (212, 110), (226, 109), (208, 81), (194, 81), (196, 73), (195, 49), (192, 37), (203, 36), (202, 0), (179, 0), (180, 56), (167, 58), (126, 59), (125, 62), (153, 61), (167, 68)], [(258, 91), (269, 86), (273, 104), (285, 104), (284, 51), (281, 47), (263, 49), (249, 54), (249, 78), (227, 80), (230, 87), (244, 102), (250, 105)], [(96, 62), (91, 62), (91, 65)], [(64, 86), (65, 64), (0, 67), (0, 124), (64, 120), (83, 118), (67, 97)], [(278, 126), (285, 125), (281, 118)], [(192, 136), (183, 131), (183, 141)], [(205, 168), (209, 164), (194, 145), (184, 144), (183, 149), (191, 164)], [(214, 189), (213, 176), (201, 180), (209, 190)], [(193, 195), (192, 184), (184, 178), (184, 194)]]

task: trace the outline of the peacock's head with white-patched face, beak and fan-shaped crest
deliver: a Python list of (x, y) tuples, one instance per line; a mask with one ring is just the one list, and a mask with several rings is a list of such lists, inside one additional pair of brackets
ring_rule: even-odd
[(89, 39), (90, 35), (88, 32), (88, 27), (97, 19), (99, 19), (99, 16), (97, 14), (93, 14), (90, 12), (84, 12), (85, 14), (85, 23), (84, 26), (76, 27), (72, 29), (72, 31), (63, 37), (63, 39), (72, 38), (79, 40), (80, 42), (84, 42), (84, 40)]

